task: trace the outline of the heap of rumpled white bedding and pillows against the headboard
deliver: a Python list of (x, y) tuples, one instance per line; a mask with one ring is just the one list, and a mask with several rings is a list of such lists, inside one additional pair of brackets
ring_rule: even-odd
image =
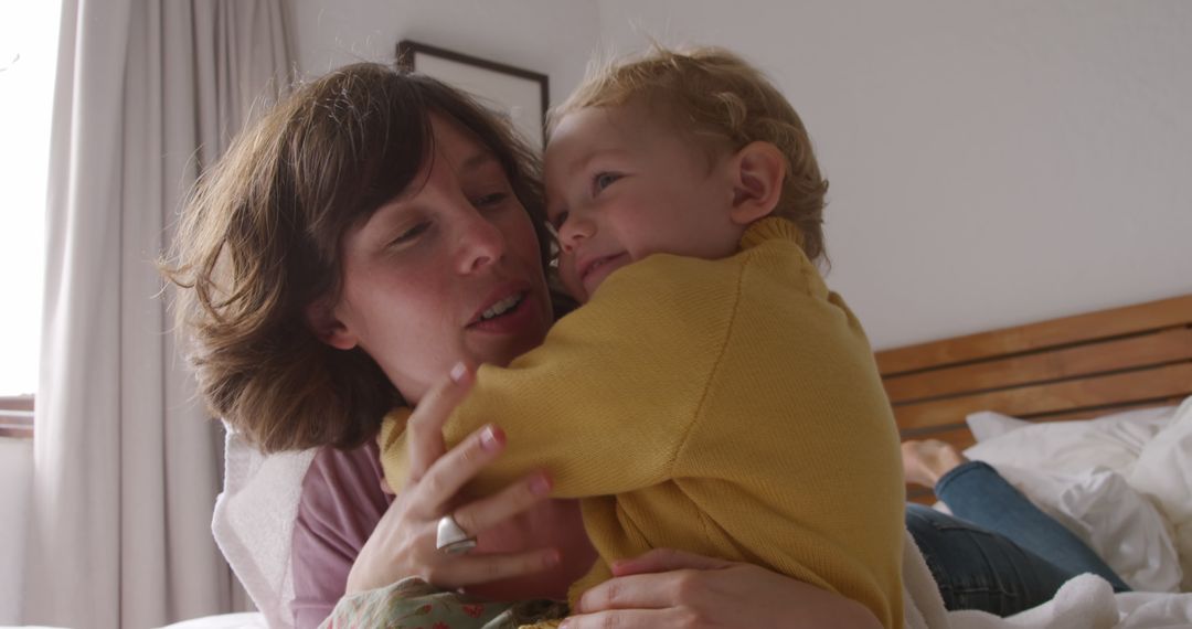
[(1084, 422), (968, 418), (994, 466), (1131, 587), (1192, 590), (1192, 398)]

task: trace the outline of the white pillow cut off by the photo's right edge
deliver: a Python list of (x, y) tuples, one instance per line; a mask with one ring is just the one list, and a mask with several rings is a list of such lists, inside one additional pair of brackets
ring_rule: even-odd
[(1175, 418), (1142, 449), (1130, 484), (1149, 496), (1175, 530), (1184, 567), (1184, 591), (1192, 591), (1192, 398)]

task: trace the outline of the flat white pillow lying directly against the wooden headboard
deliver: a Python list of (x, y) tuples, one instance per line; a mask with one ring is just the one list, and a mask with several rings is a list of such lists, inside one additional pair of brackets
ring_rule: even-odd
[(1104, 467), (1128, 474), (1142, 448), (1172, 422), (1174, 406), (1075, 422), (1024, 422), (983, 411), (966, 418), (977, 444), (966, 454), (991, 465), (1076, 474)]

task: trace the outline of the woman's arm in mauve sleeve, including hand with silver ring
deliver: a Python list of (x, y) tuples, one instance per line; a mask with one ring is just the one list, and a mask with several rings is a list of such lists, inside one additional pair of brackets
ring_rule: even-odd
[[(409, 448), (417, 477), (396, 497), (381, 488), (372, 443), (316, 456), (303, 484), (292, 542), (297, 627), (318, 625), (346, 592), (386, 586), (404, 577), (418, 575), (443, 588), (474, 585), (477, 593), (488, 593), (486, 588), (499, 593), (510, 583), (516, 585), (516, 579), (558, 563), (559, 548), (552, 544), (564, 553), (590, 553), (586, 546), (569, 548), (550, 535), (527, 534), (548, 529), (560, 512), (569, 511), (566, 505), (544, 500), (550, 481), (540, 474), (491, 498), (460, 504), (458, 488), (504, 449), (499, 430), (482, 429), (445, 451), (442, 422), (471, 382), (472, 374), (460, 381), (443, 379), (430, 401), (411, 416)], [(437, 522), (448, 509), (479, 535), (476, 553), (448, 556), (435, 550)]]

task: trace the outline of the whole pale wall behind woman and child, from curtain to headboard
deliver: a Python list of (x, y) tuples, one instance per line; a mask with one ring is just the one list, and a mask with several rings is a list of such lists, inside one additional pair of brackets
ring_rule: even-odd
[(297, 0), (299, 62), (401, 37), (550, 74), (664, 43), (776, 80), (832, 182), (828, 282), (877, 348), (1192, 292), (1192, 2)]

